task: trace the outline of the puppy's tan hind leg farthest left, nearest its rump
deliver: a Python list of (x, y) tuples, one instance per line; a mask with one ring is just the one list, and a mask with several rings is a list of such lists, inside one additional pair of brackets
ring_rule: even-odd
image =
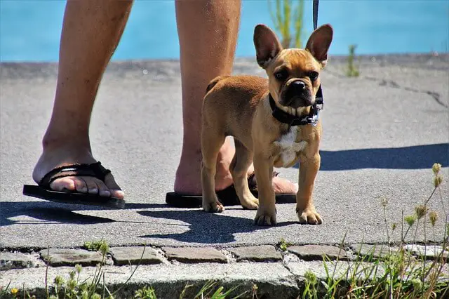
[(225, 207), (215, 194), (215, 173), (217, 156), (225, 142), (225, 134), (217, 133), (212, 127), (203, 122), (201, 129), (201, 189), (203, 192), (203, 210), (211, 213), (220, 213)]

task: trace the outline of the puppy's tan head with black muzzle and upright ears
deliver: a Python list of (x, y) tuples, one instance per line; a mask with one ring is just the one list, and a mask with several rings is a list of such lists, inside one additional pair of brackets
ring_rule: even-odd
[(268, 74), (269, 92), (287, 112), (314, 104), (332, 36), (333, 29), (326, 24), (311, 34), (305, 49), (283, 49), (272, 29), (255, 27), (257, 63)]

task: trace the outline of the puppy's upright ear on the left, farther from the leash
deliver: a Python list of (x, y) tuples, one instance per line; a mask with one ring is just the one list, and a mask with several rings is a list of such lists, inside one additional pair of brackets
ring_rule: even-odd
[(272, 29), (261, 24), (254, 28), (254, 46), (257, 63), (264, 69), (282, 50), (281, 43)]

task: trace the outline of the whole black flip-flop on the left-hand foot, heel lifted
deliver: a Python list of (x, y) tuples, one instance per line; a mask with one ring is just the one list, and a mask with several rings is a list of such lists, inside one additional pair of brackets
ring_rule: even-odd
[(39, 184), (24, 185), (23, 194), (29, 197), (37, 197), (48, 201), (64, 204), (86, 204), (89, 206), (105, 206), (108, 208), (124, 208), (125, 201), (115, 197), (102, 197), (99, 194), (88, 194), (72, 192), (60, 192), (51, 190), (50, 184), (58, 178), (67, 176), (91, 176), (105, 181), (105, 176), (110, 173), (109, 169), (103, 167), (100, 161), (93, 164), (72, 164), (52, 169)]

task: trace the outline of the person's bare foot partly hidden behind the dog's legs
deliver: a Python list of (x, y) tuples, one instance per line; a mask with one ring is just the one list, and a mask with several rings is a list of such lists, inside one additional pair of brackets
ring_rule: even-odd
[[(229, 165), (234, 157), (235, 149), (227, 139), (217, 158), (215, 190), (220, 191), (232, 185)], [(248, 168), (248, 175), (254, 172), (253, 164)], [(201, 152), (182, 152), (181, 161), (176, 171), (174, 191), (181, 194), (201, 195)], [(273, 189), (276, 194), (296, 194), (297, 184), (285, 178), (274, 177)]]

